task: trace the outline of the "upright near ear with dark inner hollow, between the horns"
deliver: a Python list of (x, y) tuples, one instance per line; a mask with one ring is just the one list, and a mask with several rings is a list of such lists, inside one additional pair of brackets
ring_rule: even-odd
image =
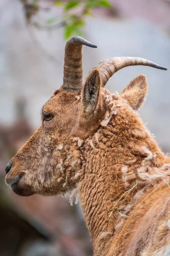
[(86, 80), (82, 89), (82, 107), (85, 116), (89, 116), (99, 107), (101, 90), (101, 78), (98, 69), (92, 70)]

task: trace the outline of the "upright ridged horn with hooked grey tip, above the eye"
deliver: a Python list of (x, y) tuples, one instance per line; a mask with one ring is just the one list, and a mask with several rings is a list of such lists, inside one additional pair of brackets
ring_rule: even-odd
[(96, 48), (84, 38), (74, 36), (65, 45), (64, 76), (62, 88), (69, 92), (77, 92), (82, 88), (82, 45)]

